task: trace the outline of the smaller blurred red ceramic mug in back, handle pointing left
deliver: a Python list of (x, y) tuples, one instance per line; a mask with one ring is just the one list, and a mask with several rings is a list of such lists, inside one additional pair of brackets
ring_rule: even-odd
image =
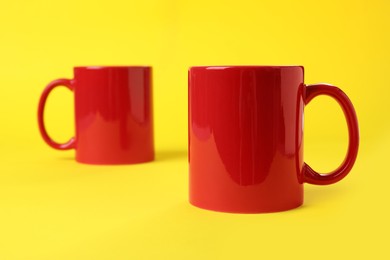
[[(48, 135), (43, 120), (49, 93), (58, 86), (74, 92), (76, 134), (67, 143)], [(152, 68), (75, 67), (74, 79), (57, 79), (44, 89), (38, 107), (39, 130), (48, 145), (75, 149), (88, 164), (133, 164), (154, 159)]]

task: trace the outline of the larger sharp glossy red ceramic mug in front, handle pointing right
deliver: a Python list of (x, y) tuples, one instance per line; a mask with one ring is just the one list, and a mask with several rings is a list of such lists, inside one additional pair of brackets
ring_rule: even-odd
[[(359, 145), (352, 103), (337, 87), (305, 85), (301, 66), (189, 69), (190, 202), (223, 212), (260, 213), (303, 203), (303, 184), (332, 184), (351, 170)], [(327, 95), (344, 111), (349, 146), (340, 167), (321, 174), (303, 161), (303, 110)]]

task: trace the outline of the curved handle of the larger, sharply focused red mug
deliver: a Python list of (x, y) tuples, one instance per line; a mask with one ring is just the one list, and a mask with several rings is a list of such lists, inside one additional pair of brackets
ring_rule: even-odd
[(356, 117), (355, 109), (348, 96), (339, 88), (327, 84), (315, 84), (306, 86), (306, 94), (304, 98), (305, 105), (308, 104), (314, 97), (319, 95), (327, 95), (334, 98), (341, 106), (344, 116), (347, 120), (349, 144), (348, 151), (341, 165), (329, 174), (321, 174), (314, 171), (306, 163), (303, 167), (304, 182), (317, 185), (327, 185), (340, 181), (352, 169), (355, 163), (358, 147), (359, 147), (359, 126)]

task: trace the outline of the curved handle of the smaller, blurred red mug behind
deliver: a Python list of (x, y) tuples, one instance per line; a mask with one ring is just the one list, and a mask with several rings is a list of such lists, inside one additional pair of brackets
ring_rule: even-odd
[(54, 149), (58, 149), (58, 150), (69, 150), (69, 149), (75, 148), (74, 137), (72, 137), (68, 142), (66, 142), (64, 144), (60, 144), (60, 143), (55, 142), (53, 139), (50, 138), (49, 134), (47, 133), (46, 128), (45, 128), (45, 122), (43, 119), (43, 113), (45, 110), (45, 104), (46, 104), (47, 97), (49, 96), (50, 92), (58, 86), (65, 86), (69, 90), (73, 91), (72, 80), (69, 80), (69, 79), (53, 80), (52, 82), (50, 82), (46, 86), (46, 88), (42, 92), (41, 99), (39, 100), (39, 105), (38, 105), (39, 131), (41, 132), (43, 140), (45, 140), (45, 142), (49, 146), (53, 147)]

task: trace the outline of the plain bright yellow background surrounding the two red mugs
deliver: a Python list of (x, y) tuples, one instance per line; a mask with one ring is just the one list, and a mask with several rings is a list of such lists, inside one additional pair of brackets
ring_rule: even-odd
[[(389, 259), (390, 2), (2, 1), (0, 259)], [(274, 214), (187, 202), (187, 68), (299, 64), (305, 82), (351, 98), (361, 146), (351, 174), (305, 185), (305, 204)], [(157, 160), (90, 166), (41, 139), (36, 110), (77, 65), (152, 65)], [(57, 89), (47, 127), (74, 132), (73, 95)], [(305, 110), (305, 161), (342, 161), (346, 124), (326, 97)]]

